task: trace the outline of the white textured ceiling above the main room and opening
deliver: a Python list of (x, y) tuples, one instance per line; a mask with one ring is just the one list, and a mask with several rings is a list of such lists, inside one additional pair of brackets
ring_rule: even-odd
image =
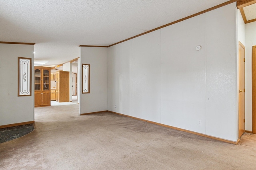
[(44, 66), (79, 57), (228, 0), (0, 0), (0, 41), (36, 43)]

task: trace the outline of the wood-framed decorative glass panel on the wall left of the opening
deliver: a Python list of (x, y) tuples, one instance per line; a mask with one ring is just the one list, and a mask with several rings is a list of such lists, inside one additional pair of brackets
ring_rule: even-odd
[(31, 59), (18, 57), (18, 96), (31, 96)]

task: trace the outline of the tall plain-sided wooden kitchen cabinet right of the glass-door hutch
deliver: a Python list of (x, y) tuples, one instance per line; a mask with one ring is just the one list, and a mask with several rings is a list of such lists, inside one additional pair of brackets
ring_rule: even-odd
[(69, 72), (56, 72), (56, 101), (69, 102)]

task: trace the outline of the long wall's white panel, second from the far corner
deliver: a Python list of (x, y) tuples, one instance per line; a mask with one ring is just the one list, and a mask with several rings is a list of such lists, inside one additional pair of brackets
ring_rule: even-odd
[(160, 123), (161, 31), (132, 39), (132, 116)]

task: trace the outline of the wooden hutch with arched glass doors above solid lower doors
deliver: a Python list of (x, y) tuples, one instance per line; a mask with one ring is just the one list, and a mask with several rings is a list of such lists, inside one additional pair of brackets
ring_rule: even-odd
[(50, 106), (50, 68), (35, 67), (35, 107)]

